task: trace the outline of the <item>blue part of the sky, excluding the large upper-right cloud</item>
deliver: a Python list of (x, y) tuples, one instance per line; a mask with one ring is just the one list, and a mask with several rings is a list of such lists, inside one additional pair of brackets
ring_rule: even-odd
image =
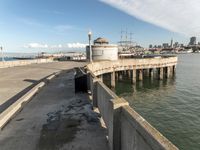
[(145, 47), (170, 42), (171, 37), (188, 43), (187, 33), (145, 20), (115, 3), (117, 0), (1, 0), (0, 45), (6, 52), (75, 50), (87, 43), (89, 29), (93, 39), (106, 37), (117, 43), (121, 29), (126, 28)]

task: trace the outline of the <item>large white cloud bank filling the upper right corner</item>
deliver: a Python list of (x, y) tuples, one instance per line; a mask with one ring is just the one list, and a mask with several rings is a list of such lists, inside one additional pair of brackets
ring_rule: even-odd
[(184, 35), (200, 34), (199, 0), (100, 0), (145, 22)]

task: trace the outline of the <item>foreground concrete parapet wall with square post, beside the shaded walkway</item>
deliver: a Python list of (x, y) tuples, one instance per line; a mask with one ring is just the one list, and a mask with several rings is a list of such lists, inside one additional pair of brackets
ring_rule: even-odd
[(89, 74), (89, 78), (93, 103), (108, 129), (111, 150), (178, 150), (94, 74)]

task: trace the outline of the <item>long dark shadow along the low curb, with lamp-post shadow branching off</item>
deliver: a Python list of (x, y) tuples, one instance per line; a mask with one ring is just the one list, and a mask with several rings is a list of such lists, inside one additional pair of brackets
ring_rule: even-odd
[(16, 102), (19, 98), (21, 98), (28, 91), (30, 91), (34, 86), (36, 86), (41, 81), (45, 81), (46, 78), (49, 77), (49, 76), (51, 76), (51, 75), (48, 75), (48, 76), (46, 76), (46, 77), (44, 77), (44, 78), (42, 78), (40, 80), (25, 79), (24, 81), (31, 82), (33, 84), (31, 84), (30, 86), (28, 86), (27, 88), (25, 88), (24, 90), (22, 90), (21, 92), (19, 92), (18, 94), (14, 95), (10, 99), (8, 99), (6, 102), (4, 102), (3, 104), (1, 104), (0, 105), (0, 113), (2, 113), (3, 111), (5, 111), (10, 105), (12, 105), (14, 102)]

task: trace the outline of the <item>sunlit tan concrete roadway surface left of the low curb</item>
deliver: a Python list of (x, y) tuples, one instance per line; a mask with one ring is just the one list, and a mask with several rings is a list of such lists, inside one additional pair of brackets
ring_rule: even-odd
[(30, 90), (44, 77), (84, 62), (53, 62), (0, 69), (0, 112)]

